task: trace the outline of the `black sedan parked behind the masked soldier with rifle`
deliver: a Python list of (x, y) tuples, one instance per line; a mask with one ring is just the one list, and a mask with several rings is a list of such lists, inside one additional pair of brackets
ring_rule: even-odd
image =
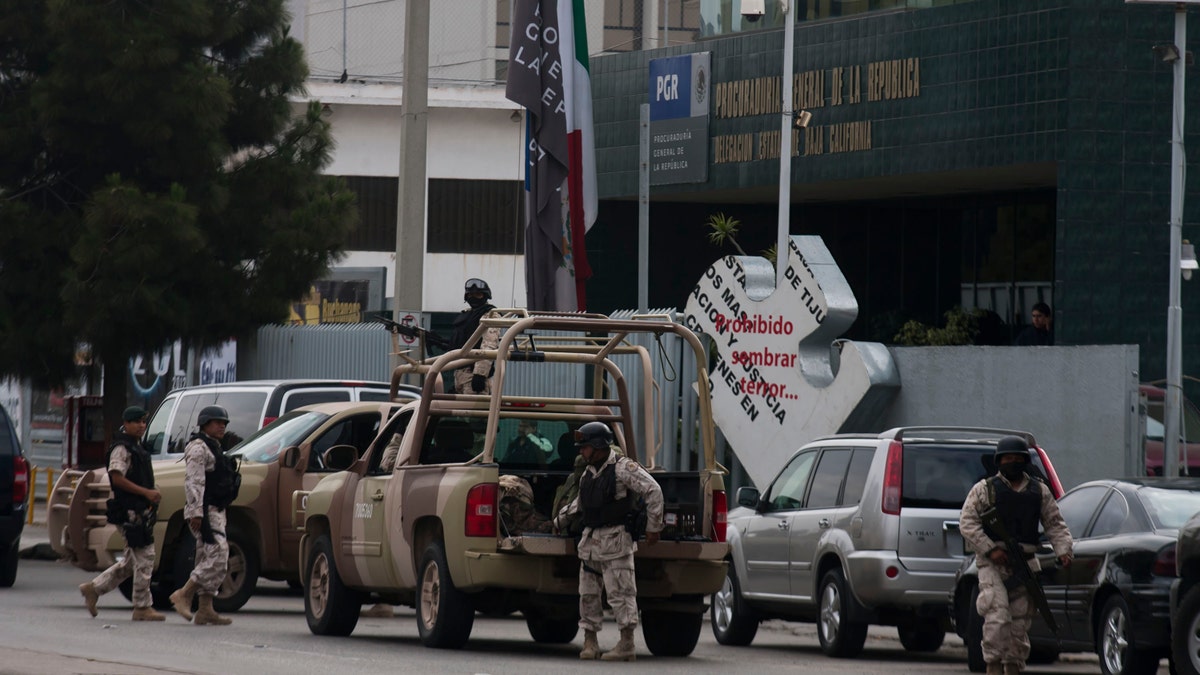
[[(1175, 540), (1178, 528), (1200, 512), (1200, 479), (1092, 480), (1063, 495), (1058, 508), (1075, 540), (1075, 560), (1069, 567), (1057, 566), (1049, 545), (1037, 556), (1058, 635), (1034, 616), (1030, 661), (1049, 663), (1058, 652), (1096, 652), (1105, 675), (1156, 673), (1170, 646)], [(974, 556), (970, 556), (955, 583), (953, 614), (967, 644), (968, 665), (982, 673), (977, 595)]]

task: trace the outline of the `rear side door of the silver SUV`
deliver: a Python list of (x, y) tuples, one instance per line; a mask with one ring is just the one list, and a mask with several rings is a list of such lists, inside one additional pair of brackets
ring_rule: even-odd
[[(816, 592), (814, 578), (821, 542), (832, 530), (850, 524), (854, 506), (841, 504), (841, 490), (853, 448), (826, 448), (817, 460), (804, 506), (792, 515), (788, 528), (790, 592), (798, 602), (810, 602)], [(862, 492), (859, 492), (862, 495)]]

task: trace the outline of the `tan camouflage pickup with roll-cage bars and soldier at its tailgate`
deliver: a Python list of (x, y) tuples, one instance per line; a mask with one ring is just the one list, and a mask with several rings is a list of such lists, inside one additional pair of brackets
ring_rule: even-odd
[[(382, 598), (416, 609), (421, 641), (427, 646), (466, 644), (476, 611), (520, 610), (534, 640), (571, 641), (578, 621), (575, 540), (550, 532), (545, 520), (553, 515), (554, 492), (574, 466), (574, 430), (602, 420), (614, 428), (622, 450), (650, 470), (666, 502), (661, 540), (642, 543), (635, 558), (647, 646), (660, 656), (691, 653), (706, 598), (725, 581), (728, 552), (724, 470), (714, 459), (708, 375), (701, 368), (694, 383), (701, 401), (697, 428), (684, 430), (701, 441), (701, 468), (662, 471), (653, 449), (640, 447), (637, 438), (650, 438), (653, 447), (662, 429), (676, 432), (678, 420), (661, 419), (653, 405), (649, 354), (628, 338), (677, 335), (684, 350), (704, 364), (701, 344), (670, 321), (596, 315), (505, 310), (485, 318), (479, 330), (491, 327), (502, 330), (498, 350), (452, 351), (397, 369), (394, 388), (406, 374), (424, 376), (420, 401), (406, 405), (389, 420), (366, 454), (326, 455), (329, 464), (346, 470), (325, 476), (302, 500), (300, 548), (310, 629), (348, 635), (360, 605)], [(476, 344), (479, 335), (467, 344)], [(617, 366), (613, 357), (618, 354), (641, 363), (636, 377), (626, 378)], [(451, 380), (454, 369), (479, 359), (494, 362), (491, 395), (443, 393), (442, 383)], [(505, 394), (505, 376), (516, 362), (522, 368), (577, 368), (587, 372), (592, 395)], [(643, 393), (636, 431), (631, 387)], [(516, 449), (518, 436), (532, 426), (550, 441), (542, 446), (552, 448), (532, 455)], [(395, 432), (403, 435), (398, 461), (384, 471), (380, 454)], [(505, 496), (515, 479), (503, 477), (526, 482), (535, 515), (512, 518), (517, 512)]]

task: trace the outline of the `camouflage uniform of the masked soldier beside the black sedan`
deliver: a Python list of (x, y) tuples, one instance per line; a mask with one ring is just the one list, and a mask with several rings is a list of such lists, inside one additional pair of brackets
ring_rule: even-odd
[[(1030, 623), (1037, 608), (1024, 586), (1013, 590), (1004, 587), (1004, 580), (1012, 577), (1012, 571), (1008, 566), (997, 566), (988, 557), (989, 552), (1003, 545), (984, 532), (979, 518), (980, 513), (991, 508), (988, 480), (990, 478), (976, 483), (967, 494), (959, 519), (959, 531), (974, 548), (976, 565), (979, 568), (979, 599), (976, 609), (983, 616), (983, 658), (988, 663), (1003, 663), (1006, 667), (1012, 664), (1020, 670), (1025, 668), (1025, 659), (1030, 656)], [(1026, 482), (1034, 482), (1042, 491), (1042, 526), (1054, 546), (1055, 556), (1072, 555), (1070, 531), (1058, 513), (1058, 502), (1050, 488), (1032, 478), (1015, 484), (1002, 476), (1000, 480), (1014, 490), (1024, 490)], [(1034, 574), (1040, 569), (1037, 558), (1027, 562)]]

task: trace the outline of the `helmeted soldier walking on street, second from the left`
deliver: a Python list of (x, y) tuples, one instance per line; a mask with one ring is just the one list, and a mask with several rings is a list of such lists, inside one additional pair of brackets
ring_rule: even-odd
[(226, 456), (221, 447), (229, 413), (221, 406), (208, 406), (200, 411), (197, 424), (200, 430), (184, 448), (184, 491), (187, 495), (184, 519), (196, 537), (196, 566), (187, 584), (170, 595), (170, 602), (175, 611), (192, 621), (192, 598), (199, 595), (194, 623), (228, 626), (232, 621), (212, 609), (212, 596), (229, 567), (226, 507), (238, 497), (241, 477), (234, 460)]

